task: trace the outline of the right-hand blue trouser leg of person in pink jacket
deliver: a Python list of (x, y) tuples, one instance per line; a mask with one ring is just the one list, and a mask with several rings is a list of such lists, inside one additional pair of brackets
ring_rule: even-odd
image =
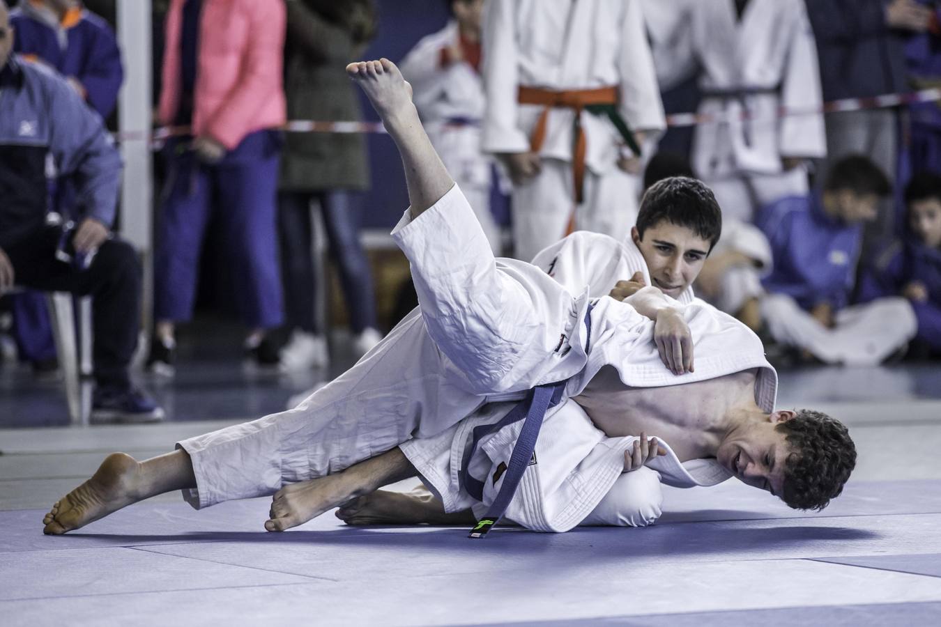
[[(231, 158), (230, 158), (231, 157)], [(278, 251), (280, 145), (274, 133), (250, 133), (213, 169), (222, 245), (240, 289), (236, 306), (247, 326), (283, 321)]]

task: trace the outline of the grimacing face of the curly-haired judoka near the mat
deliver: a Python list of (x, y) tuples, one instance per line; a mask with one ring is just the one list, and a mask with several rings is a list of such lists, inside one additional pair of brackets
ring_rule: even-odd
[(750, 425), (724, 441), (716, 451), (716, 459), (742, 482), (781, 496), (784, 469), (793, 451), (785, 434), (774, 427), (794, 415), (789, 411), (774, 412), (767, 422)]

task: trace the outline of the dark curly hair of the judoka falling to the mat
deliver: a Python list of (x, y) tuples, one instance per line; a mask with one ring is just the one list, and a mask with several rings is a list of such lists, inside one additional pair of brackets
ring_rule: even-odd
[(794, 450), (784, 470), (784, 502), (820, 510), (843, 491), (856, 465), (856, 447), (846, 427), (829, 415), (802, 409), (775, 429)]

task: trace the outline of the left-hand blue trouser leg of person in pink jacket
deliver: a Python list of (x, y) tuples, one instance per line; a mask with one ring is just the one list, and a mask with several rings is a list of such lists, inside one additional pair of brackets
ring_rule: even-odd
[(180, 142), (167, 144), (167, 182), (158, 219), (153, 256), (153, 317), (188, 321), (193, 315), (199, 256), (212, 214), (208, 169), (190, 152), (175, 154)]

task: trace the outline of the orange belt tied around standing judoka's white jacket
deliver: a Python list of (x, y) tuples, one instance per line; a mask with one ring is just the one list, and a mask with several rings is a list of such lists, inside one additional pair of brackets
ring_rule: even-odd
[[(585, 133), (582, 129), (582, 109), (591, 104), (617, 104), (617, 87), (598, 87), (597, 89), (566, 89), (555, 91), (540, 89), (539, 87), (519, 87), (518, 101), (520, 104), (542, 104), (544, 106), (539, 119), (535, 123), (533, 134), (530, 136), (530, 149), (538, 152), (546, 140), (546, 123), (549, 119), (549, 110), (552, 108), (565, 108), (575, 110), (575, 146), (572, 149), (572, 174), (575, 183), (575, 204), (582, 204), (582, 185), (585, 179)], [(575, 211), (568, 220), (566, 235), (575, 229)]]

